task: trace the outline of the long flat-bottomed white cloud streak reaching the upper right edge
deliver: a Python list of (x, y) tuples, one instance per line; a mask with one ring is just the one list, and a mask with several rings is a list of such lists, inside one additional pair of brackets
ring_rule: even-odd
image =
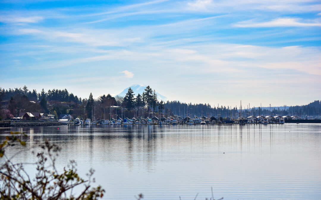
[(253, 20), (242, 21), (235, 24), (236, 27), (242, 28), (260, 28), (260, 27), (313, 27), (313, 26), (321, 26), (321, 23), (303, 23), (299, 22), (298, 18), (279, 18), (267, 22), (258, 22), (255, 23)]

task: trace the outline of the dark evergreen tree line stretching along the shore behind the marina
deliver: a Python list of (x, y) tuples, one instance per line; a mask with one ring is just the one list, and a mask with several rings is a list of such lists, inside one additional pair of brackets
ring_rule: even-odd
[[(71, 114), (75, 117), (91, 118), (108, 118), (116, 116), (110, 109), (110, 106), (119, 106), (123, 108), (123, 116), (127, 117), (147, 117), (150, 113), (156, 116), (182, 116), (182, 117), (231, 117), (239, 116), (267, 116), (267, 115), (295, 115), (295, 116), (319, 116), (321, 114), (320, 100), (315, 100), (308, 105), (290, 106), (287, 109), (273, 108), (242, 108), (238, 106), (211, 106), (209, 103), (182, 103), (180, 101), (159, 101), (155, 90), (150, 86), (144, 89), (142, 94), (134, 94), (131, 88), (124, 97), (116, 95), (112, 97), (110, 94), (101, 95), (94, 99), (90, 93), (89, 98), (78, 98), (73, 93), (69, 93), (66, 89), (52, 89), (45, 92), (37, 92), (35, 89), (29, 90), (27, 86), (23, 88), (14, 88), (4, 90), (0, 87), (0, 101), (7, 101), (7, 106), (2, 106), (0, 117), (2, 119), (19, 115), (20, 111), (26, 112), (44, 112), (59, 116), (60, 114)], [(35, 101), (39, 103), (34, 103)], [(47, 106), (50, 102), (50, 107)], [(63, 104), (65, 102), (65, 104)], [(68, 104), (68, 105), (66, 105)], [(108, 109), (109, 108), (109, 109)], [(118, 111), (119, 114), (120, 111)], [(125, 113), (126, 112), (126, 113)], [(107, 114), (107, 115), (106, 115)], [(117, 116), (118, 116), (117, 114)], [(107, 116), (107, 117), (106, 117)], [(116, 117), (117, 117), (116, 116)]]

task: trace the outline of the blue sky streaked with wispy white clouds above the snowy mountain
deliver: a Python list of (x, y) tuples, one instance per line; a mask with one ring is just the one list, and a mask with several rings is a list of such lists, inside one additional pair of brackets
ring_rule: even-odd
[(134, 84), (187, 103), (320, 100), (321, 2), (0, 1), (0, 87), (88, 98)]

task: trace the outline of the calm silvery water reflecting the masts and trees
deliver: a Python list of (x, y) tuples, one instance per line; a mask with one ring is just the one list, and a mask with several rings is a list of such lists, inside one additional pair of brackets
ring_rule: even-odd
[[(321, 198), (321, 124), (24, 127), (1, 140), (10, 131), (26, 132), (28, 148), (60, 145), (59, 167), (95, 169), (105, 199), (205, 199), (211, 187), (214, 198)], [(30, 151), (13, 160), (34, 161)]]

